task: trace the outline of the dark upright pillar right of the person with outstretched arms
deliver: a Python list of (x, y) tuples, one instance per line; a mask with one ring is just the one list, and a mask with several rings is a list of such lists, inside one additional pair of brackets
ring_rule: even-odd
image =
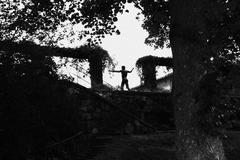
[(156, 68), (153, 64), (144, 64), (142, 66), (144, 86), (147, 89), (154, 90), (156, 89)]

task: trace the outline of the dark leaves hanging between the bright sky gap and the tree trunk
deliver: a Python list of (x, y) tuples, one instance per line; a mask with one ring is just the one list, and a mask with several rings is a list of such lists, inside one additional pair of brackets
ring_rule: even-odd
[(170, 47), (169, 2), (166, 0), (142, 0), (140, 5), (145, 16), (143, 28), (149, 33), (145, 43), (154, 48)]

